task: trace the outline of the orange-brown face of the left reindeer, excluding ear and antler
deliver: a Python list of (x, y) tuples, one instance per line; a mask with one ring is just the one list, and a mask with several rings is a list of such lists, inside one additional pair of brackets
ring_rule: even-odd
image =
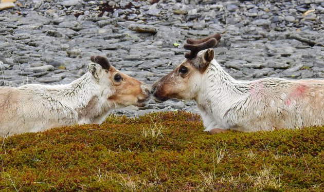
[(108, 99), (122, 106), (136, 105), (139, 107), (147, 105), (150, 99), (149, 86), (139, 82), (135, 78), (123, 74), (111, 66), (107, 72), (110, 73), (114, 94)]

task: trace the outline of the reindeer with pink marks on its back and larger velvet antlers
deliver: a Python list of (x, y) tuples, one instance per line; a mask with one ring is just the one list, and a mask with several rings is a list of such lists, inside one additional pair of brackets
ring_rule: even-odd
[(214, 60), (210, 48), (220, 39), (220, 34), (188, 39), (186, 59), (153, 84), (154, 97), (195, 100), (210, 133), (324, 124), (324, 80), (235, 80)]

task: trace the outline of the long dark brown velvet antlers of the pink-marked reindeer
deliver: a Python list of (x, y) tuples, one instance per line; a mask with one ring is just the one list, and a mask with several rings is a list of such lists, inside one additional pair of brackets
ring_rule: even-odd
[(221, 37), (221, 34), (215, 33), (201, 40), (188, 39), (188, 44), (185, 44), (184, 48), (190, 50), (190, 52), (185, 53), (185, 57), (187, 59), (193, 59), (197, 56), (199, 51), (209, 49), (217, 45)]

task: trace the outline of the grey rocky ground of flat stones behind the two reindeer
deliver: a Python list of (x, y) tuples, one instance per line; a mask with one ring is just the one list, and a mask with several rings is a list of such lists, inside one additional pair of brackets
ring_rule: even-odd
[[(69, 83), (97, 54), (153, 84), (184, 60), (186, 39), (215, 32), (223, 36), (215, 58), (236, 79), (324, 78), (323, 0), (20, 0), (14, 5), (0, 4), (0, 86)], [(177, 109), (197, 112), (195, 102), (178, 100), (114, 112), (133, 117)]]

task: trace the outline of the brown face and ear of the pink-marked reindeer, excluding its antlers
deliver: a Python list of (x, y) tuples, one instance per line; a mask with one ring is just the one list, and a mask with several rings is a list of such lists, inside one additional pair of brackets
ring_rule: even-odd
[(155, 82), (151, 93), (160, 101), (171, 98), (195, 99), (203, 74), (213, 60), (213, 56), (213, 50), (209, 49), (194, 59), (186, 59), (169, 74)]

